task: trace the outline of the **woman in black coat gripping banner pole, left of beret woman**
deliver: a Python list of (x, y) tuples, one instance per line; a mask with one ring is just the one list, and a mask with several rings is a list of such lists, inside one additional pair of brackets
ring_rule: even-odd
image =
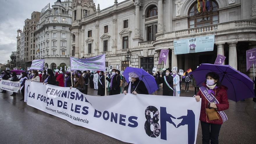
[(107, 76), (106, 80), (110, 82), (110, 92), (109, 95), (118, 95), (120, 94), (120, 76), (116, 74), (116, 70), (112, 69), (111, 72), (111, 79), (109, 79)]

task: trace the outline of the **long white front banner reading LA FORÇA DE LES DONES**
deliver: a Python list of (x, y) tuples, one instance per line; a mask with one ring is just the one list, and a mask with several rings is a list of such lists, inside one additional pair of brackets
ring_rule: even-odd
[(25, 95), (29, 106), (127, 143), (196, 143), (201, 102), (194, 97), (90, 96), (34, 81)]

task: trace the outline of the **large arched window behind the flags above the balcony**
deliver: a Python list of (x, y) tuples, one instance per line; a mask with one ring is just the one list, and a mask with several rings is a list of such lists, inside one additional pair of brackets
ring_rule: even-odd
[[(207, 5), (207, 2), (209, 2), (209, 6)], [(201, 3), (201, 12), (198, 12), (197, 1), (190, 7), (188, 12), (189, 28), (219, 23), (219, 12), (217, 11), (219, 7), (217, 2), (214, 0), (205, 0), (205, 3), (206, 7), (204, 12)]]

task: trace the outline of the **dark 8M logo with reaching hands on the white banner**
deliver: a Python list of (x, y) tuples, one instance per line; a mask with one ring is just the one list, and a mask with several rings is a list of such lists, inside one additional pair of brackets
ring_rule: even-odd
[[(188, 143), (193, 144), (195, 142), (195, 114), (192, 110), (188, 110), (187, 115), (181, 116), (177, 119), (182, 119), (181, 123), (177, 126), (171, 118), (176, 119), (171, 114), (166, 112), (166, 107), (160, 107), (160, 112), (154, 106), (148, 106), (145, 110), (146, 122), (144, 125), (145, 132), (148, 136), (156, 138), (161, 133), (161, 139), (167, 140), (166, 136), (166, 122), (169, 122), (174, 127), (179, 128), (180, 126), (188, 125)], [(153, 117), (151, 115), (153, 113)], [(160, 118), (161, 127), (158, 123)], [(150, 126), (154, 126), (154, 131), (151, 131)]]

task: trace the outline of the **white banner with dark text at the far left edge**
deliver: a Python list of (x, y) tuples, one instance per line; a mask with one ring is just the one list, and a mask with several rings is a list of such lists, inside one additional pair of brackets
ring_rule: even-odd
[(17, 93), (19, 91), (19, 81), (1, 80), (0, 88), (10, 92)]

